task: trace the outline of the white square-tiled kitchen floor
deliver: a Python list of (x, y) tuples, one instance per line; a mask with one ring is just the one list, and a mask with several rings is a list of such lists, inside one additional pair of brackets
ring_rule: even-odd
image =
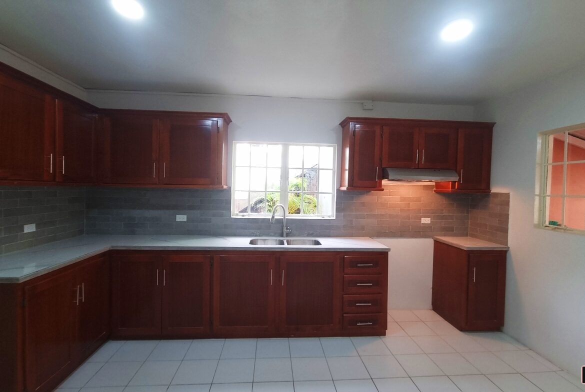
[(388, 312), (373, 338), (110, 341), (59, 392), (580, 392), (500, 332), (463, 333), (431, 310)]

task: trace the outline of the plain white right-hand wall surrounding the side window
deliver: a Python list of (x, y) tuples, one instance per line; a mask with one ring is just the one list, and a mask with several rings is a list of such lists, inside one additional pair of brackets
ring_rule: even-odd
[(570, 373), (585, 365), (585, 237), (535, 228), (539, 131), (585, 122), (585, 67), (477, 108), (497, 122), (491, 184), (510, 192), (504, 331)]

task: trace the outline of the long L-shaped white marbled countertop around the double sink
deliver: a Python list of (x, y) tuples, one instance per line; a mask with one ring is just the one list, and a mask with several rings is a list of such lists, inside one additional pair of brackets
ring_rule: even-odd
[[(0, 283), (19, 283), (110, 249), (390, 252), (368, 237), (315, 237), (321, 245), (250, 245), (257, 237), (81, 235), (0, 256)], [(304, 237), (290, 237), (304, 238)]]

